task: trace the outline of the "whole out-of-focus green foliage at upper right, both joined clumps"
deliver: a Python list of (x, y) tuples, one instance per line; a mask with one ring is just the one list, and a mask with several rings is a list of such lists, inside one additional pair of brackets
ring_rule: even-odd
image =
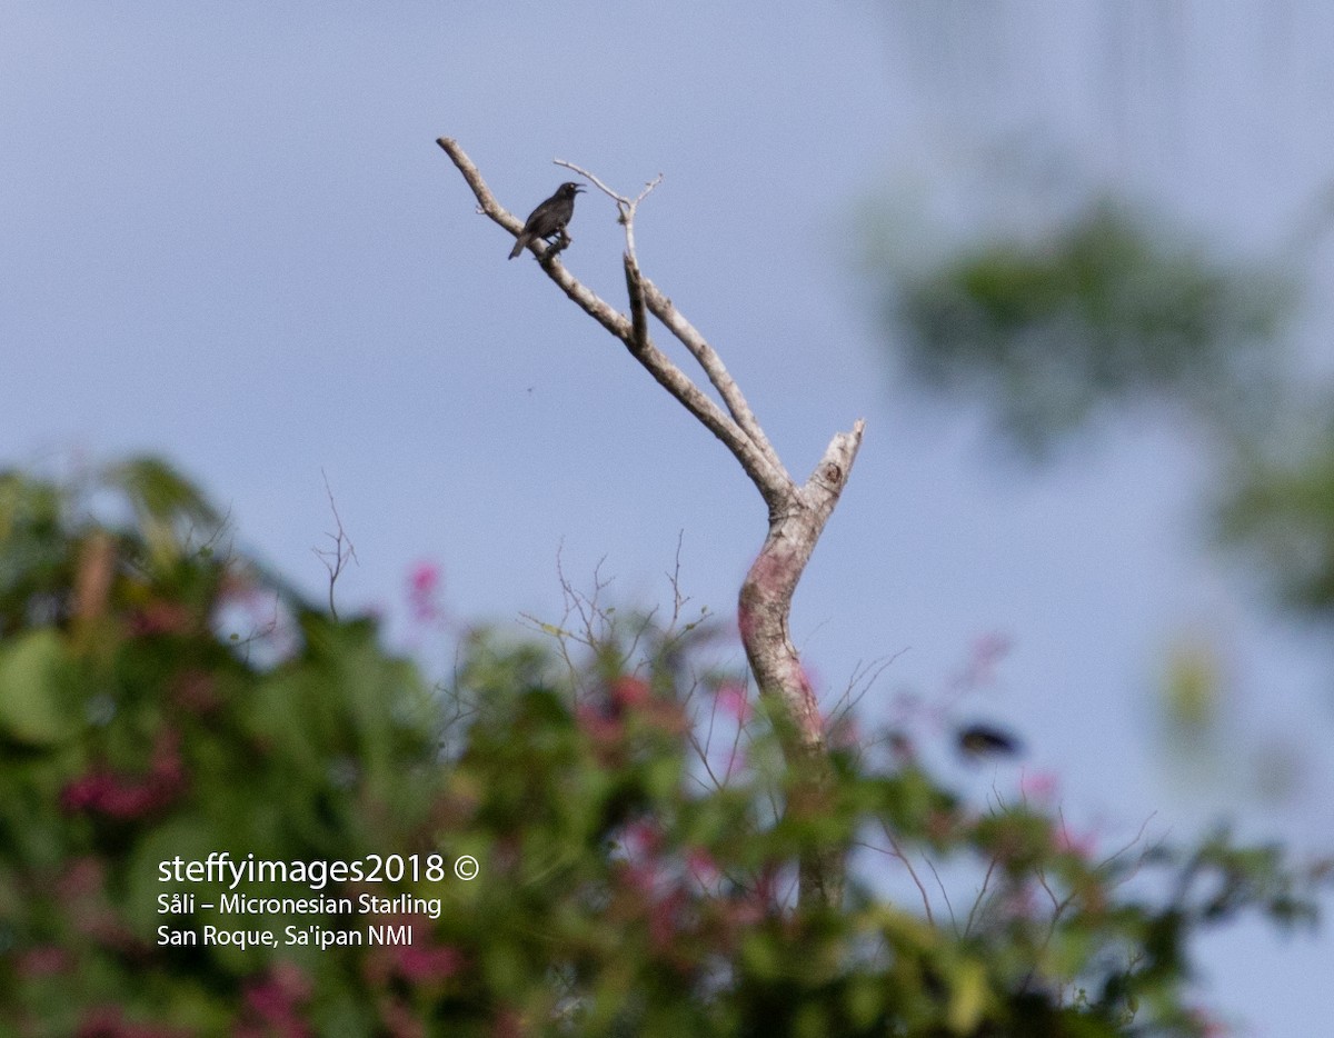
[(1219, 463), (1219, 540), (1281, 603), (1329, 619), (1334, 423), (1329, 387), (1286, 348), (1299, 259), (1225, 260), (1093, 196), (1045, 229), (874, 276), (907, 374), (979, 404), (1022, 456), (1155, 404), (1189, 416)]

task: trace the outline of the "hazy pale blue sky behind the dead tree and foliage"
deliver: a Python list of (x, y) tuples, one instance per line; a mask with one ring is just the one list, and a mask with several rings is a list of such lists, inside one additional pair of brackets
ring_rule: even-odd
[[(1189, 428), (1137, 416), (1051, 468), (1014, 466), (974, 408), (886, 366), (858, 275), (872, 203), (911, 217), (904, 256), (1041, 217), (1041, 183), (996, 160), (1017, 151), (1229, 247), (1281, 248), (1334, 139), (1334, 19), (1291, 11), (11, 1), (3, 460), (164, 452), (315, 594), (327, 475), (360, 559), (340, 595), (391, 616), (430, 559), (456, 616), (554, 618), (558, 550), (576, 584), (606, 559), (622, 600), (666, 600), (682, 531), (684, 591), (730, 612), (764, 532), (754, 488), (528, 257), (506, 262), (434, 141), (456, 137), (520, 216), (566, 179), (552, 157), (623, 191), (663, 173), (640, 260), (787, 467), (804, 476), (868, 423), (794, 614), (828, 688), (899, 654), (866, 700), (883, 718), (999, 634), (1013, 648), (976, 711), (1022, 731), (1027, 766), (1111, 843), (1153, 811), (1186, 837), (1235, 810), (1250, 835), (1319, 849), (1327, 651), (1202, 547)], [(567, 264), (619, 302), (612, 205), (583, 196), (571, 231)], [(1318, 332), (1303, 347), (1327, 358)], [(1231, 722), (1206, 772), (1174, 766), (1154, 723), (1183, 632), (1226, 650)], [(1301, 760), (1279, 803), (1245, 763), (1266, 750)], [(1334, 1015), (1313, 983), (1334, 971), (1329, 934), (1245, 927), (1206, 965), (1257, 1034)]]

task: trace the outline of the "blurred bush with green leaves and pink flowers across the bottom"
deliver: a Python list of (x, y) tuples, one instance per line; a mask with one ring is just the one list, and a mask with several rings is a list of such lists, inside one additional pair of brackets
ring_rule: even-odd
[[(224, 540), (160, 462), (80, 486), (0, 475), (4, 1034), (1201, 1035), (1198, 930), (1310, 918), (1318, 873), (1274, 849), (1219, 835), (1095, 861), (1059, 811), (971, 806), (870, 746), (835, 754), (819, 813), (784, 806), (764, 711), (690, 666), (707, 624), (600, 611), (580, 658), (560, 628), (478, 631), (431, 687), (374, 623)], [(791, 903), (802, 854), (854, 846), (844, 906)], [(440, 911), (243, 915), (220, 882), (160, 877), (223, 853), (419, 855), (435, 865), (394, 882), (237, 893)], [(966, 913), (946, 922), (920, 883), (886, 898), (938, 862), (971, 867)], [(195, 903), (159, 911), (181, 893)], [(284, 939), (379, 923), (411, 942)], [(207, 926), (279, 946), (161, 938)]]

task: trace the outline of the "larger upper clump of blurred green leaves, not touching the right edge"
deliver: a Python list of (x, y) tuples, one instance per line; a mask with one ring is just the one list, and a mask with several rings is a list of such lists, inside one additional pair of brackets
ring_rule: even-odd
[(1033, 455), (1145, 396), (1235, 422), (1267, 400), (1258, 347), (1293, 298), (1277, 268), (1215, 260), (1106, 197), (891, 284), (908, 372), (980, 402)]

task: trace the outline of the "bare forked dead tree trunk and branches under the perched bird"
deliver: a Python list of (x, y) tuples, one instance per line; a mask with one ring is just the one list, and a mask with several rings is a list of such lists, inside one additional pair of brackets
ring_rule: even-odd
[[(450, 137), (440, 137), (436, 143), (472, 189), (478, 211), (518, 237), (523, 220), (496, 201), (459, 144)], [(742, 583), (736, 619), (755, 683), (760, 695), (778, 707), (788, 760), (800, 776), (788, 810), (816, 815), (824, 806), (828, 774), (824, 720), (815, 690), (792, 646), (788, 616), (798, 580), (847, 486), (862, 444), (864, 422), (858, 419), (850, 431), (839, 432), (830, 440), (804, 483), (794, 480), (718, 352), (639, 268), (635, 211), (662, 177), (650, 181), (638, 197), (631, 199), (571, 163), (558, 160), (558, 164), (586, 177), (616, 204), (619, 221), (626, 228), (623, 264), (630, 315), (618, 311), (570, 274), (558, 255), (559, 248), (535, 243), (542, 270), (580, 310), (624, 343), (631, 356), (723, 442), (768, 507), (768, 535)], [(648, 326), (650, 314), (695, 358), (722, 407), (658, 348)], [(803, 902), (838, 905), (842, 901), (843, 857), (840, 851), (822, 850), (802, 861), (798, 889)]]

